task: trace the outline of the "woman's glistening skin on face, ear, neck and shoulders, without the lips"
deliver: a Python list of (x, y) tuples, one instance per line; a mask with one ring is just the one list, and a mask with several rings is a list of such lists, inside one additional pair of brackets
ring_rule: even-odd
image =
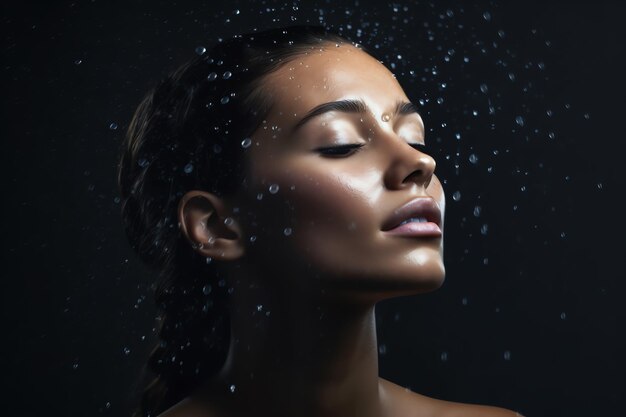
[[(423, 121), (402, 106), (410, 100), (397, 80), (357, 48), (332, 44), (262, 88), (273, 107), (246, 151), (244, 185), (228, 198), (191, 191), (179, 205), (183, 233), (234, 288), (232, 335), (222, 370), (164, 415), (515, 415), (378, 377), (376, 302), (434, 290), (445, 275), (441, 235), (387, 231), (412, 200), (429, 199), (441, 219), (445, 209)], [(344, 106), (306, 117), (337, 101)]]

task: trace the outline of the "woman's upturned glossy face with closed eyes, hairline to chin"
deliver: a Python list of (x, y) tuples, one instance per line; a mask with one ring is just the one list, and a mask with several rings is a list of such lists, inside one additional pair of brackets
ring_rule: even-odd
[(445, 198), (420, 146), (422, 119), (392, 73), (331, 44), (272, 73), (263, 90), (274, 105), (247, 150), (245, 190), (259, 267), (363, 295), (439, 287)]

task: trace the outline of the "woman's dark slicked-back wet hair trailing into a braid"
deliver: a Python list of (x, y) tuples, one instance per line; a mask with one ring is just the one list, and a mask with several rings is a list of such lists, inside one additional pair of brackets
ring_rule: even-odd
[(317, 26), (292, 26), (218, 42), (143, 99), (121, 152), (118, 180), (127, 237), (158, 272), (153, 285), (160, 341), (147, 366), (156, 378), (135, 417), (156, 416), (219, 370), (228, 350), (224, 277), (183, 241), (180, 197), (192, 189), (227, 195), (244, 179), (249, 136), (272, 103), (264, 77), (298, 55), (347, 40)]

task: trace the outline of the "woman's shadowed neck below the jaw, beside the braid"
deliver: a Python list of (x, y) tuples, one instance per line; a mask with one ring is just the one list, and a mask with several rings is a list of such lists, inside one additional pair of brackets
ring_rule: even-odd
[[(231, 277), (230, 351), (210, 383), (220, 398), (232, 400), (228, 409), (382, 415), (374, 303), (330, 301), (319, 288), (301, 285), (269, 292), (244, 275)], [(281, 282), (303, 281), (291, 278)]]

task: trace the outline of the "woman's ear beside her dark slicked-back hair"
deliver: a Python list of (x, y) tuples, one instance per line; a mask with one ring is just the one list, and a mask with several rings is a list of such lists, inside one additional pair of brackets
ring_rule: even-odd
[(193, 190), (178, 203), (178, 221), (196, 252), (215, 260), (232, 261), (245, 251), (238, 221), (214, 194)]

